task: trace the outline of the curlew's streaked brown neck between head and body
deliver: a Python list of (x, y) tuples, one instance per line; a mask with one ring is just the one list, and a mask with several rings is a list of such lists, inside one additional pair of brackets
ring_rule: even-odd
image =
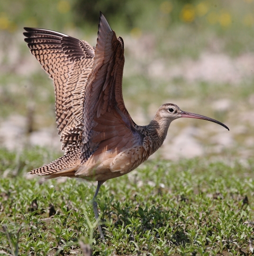
[(146, 126), (149, 131), (149, 138), (151, 138), (151, 154), (155, 153), (162, 143), (164, 143), (170, 122), (171, 120), (169, 119), (161, 119), (156, 116), (151, 120), (149, 125)]

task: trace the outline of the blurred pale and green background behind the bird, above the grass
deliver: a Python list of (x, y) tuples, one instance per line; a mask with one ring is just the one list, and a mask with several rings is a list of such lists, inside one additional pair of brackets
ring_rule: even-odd
[(247, 163), (254, 153), (253, 0), (0, 0), (0, 147), (60, 152), (52, 81), (23, 27), (96, 45), (102, 11), (125, 46), (123, 95), (139, 125), (163, 103), (215, 118), (178, 119), (153, 158)]

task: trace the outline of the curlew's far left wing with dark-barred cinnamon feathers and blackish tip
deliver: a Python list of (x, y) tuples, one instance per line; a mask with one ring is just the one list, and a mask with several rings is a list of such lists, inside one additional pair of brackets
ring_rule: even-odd
[(57, 128), (62, 149), (67, 153), (80, 147), (84, 93), (93, 67), (94, 48), (59, 32), (24, 29), (31, 53), (53, 80)]

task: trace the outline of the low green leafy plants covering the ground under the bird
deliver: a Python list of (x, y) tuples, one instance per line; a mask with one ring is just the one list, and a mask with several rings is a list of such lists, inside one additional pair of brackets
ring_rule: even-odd
[(40, 148), (19, 157), (0, 152), (1, 176), (11, 170), (0, 180), (3, 255), (81, 255), (79, 240), (92, 245), (93, 255), (251, 254), (251, 161), (158, 160), (107, 181), (97, 198), (103, 243), (91, 204), (95, 183), (26, 177), (52, 159), (47, 155)]

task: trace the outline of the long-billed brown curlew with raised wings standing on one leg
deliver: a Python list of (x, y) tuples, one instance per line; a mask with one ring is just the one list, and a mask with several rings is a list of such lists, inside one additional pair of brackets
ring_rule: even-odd
[[(162, 104), (148, 125), (137, 125), (122, 95), (124, 42), (102, 12), (96, 47), (52, 30), (24, 30), (32, 55), (53, 80), (57, 129), (65, 151), (29, 174), (97, 181), (92, 200), (96, 220), (96, 197), (102, 184), (133, 171), (155, 153), (173, 120), (204, 119), (229, 130), (220, 121), (183, 111), (173, 103)], [(98, 230), (104, 240), (101, 225)]]

